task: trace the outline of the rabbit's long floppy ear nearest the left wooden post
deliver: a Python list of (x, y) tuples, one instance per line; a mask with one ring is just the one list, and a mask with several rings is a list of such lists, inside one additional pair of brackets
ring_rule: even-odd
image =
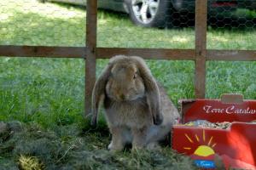
[(112, 68), (111, 64), (108, 64), (105, 67), (100, 77), (96, 80), (95, 86), (92, 91), (92, 99), (91, 99), (92, 117), (90, 121), (90, 125), (92, 126), (96, 126), (99, 105), (102, 97), (105, 94), (105, 87), (108, 82), (108, 77), (110, 75), (111, 68)]

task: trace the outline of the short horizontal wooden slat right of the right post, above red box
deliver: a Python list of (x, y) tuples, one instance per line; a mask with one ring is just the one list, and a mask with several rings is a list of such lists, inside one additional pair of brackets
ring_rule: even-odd
[(256, 50), (207, 50), (207, 60), (256, 61)]

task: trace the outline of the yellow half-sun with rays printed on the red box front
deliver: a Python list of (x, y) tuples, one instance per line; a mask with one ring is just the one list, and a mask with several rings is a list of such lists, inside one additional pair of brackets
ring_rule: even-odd
[[(195, 151), (194, 155), (195, 156), (212, 156), (215, 154), (213, 148), (216, 146), (216, 143), (212, 144), (213, 141), (213, 136), (211, 136), (210, 139), (206, 139), (206, 132), (205, 130), (202, 131), (202, 139), (199, 138), (199, 135), (195, 134), (195, 140), (192, 136), (189, 136), (187, 133), (185, 133), (186, 139), (189, 140), (189, 143), (195, 144), (196, 142), (202, 145), (199, 145)], [(191, 147), (183, 147), (184, 150), (192, 150)]]

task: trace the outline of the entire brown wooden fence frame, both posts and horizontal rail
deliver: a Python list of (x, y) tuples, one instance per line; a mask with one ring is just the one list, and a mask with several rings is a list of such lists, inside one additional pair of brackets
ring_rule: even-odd
[[(195, 97), (205, 98), (206, 62), (209, 60), (256, 60), (256, 50), (207, 49), (207, 0), (195, 0), (195, 48), (98, 48), (97, 1), (87, 0), (86, 47), (0, 46), (0, 56), (83, 58), (85, 62), (85, 114), (90, 113), (91, 93), (96, 81), (96, 59), (108, 59), (115, 54), (138, 55), (144, 59), (195, 61)], [(85, 20), (85, 19), (84, 19)]]

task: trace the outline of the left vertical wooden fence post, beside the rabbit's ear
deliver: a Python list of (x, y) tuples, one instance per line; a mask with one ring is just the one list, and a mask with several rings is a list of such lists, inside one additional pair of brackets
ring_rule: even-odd
[(97, 0), (87, 0), (86, 5), (86, 60), (85, 60), (85, 95), (84, 114), (91, 111), (91, 94), (96, 81), (96, 27)]

